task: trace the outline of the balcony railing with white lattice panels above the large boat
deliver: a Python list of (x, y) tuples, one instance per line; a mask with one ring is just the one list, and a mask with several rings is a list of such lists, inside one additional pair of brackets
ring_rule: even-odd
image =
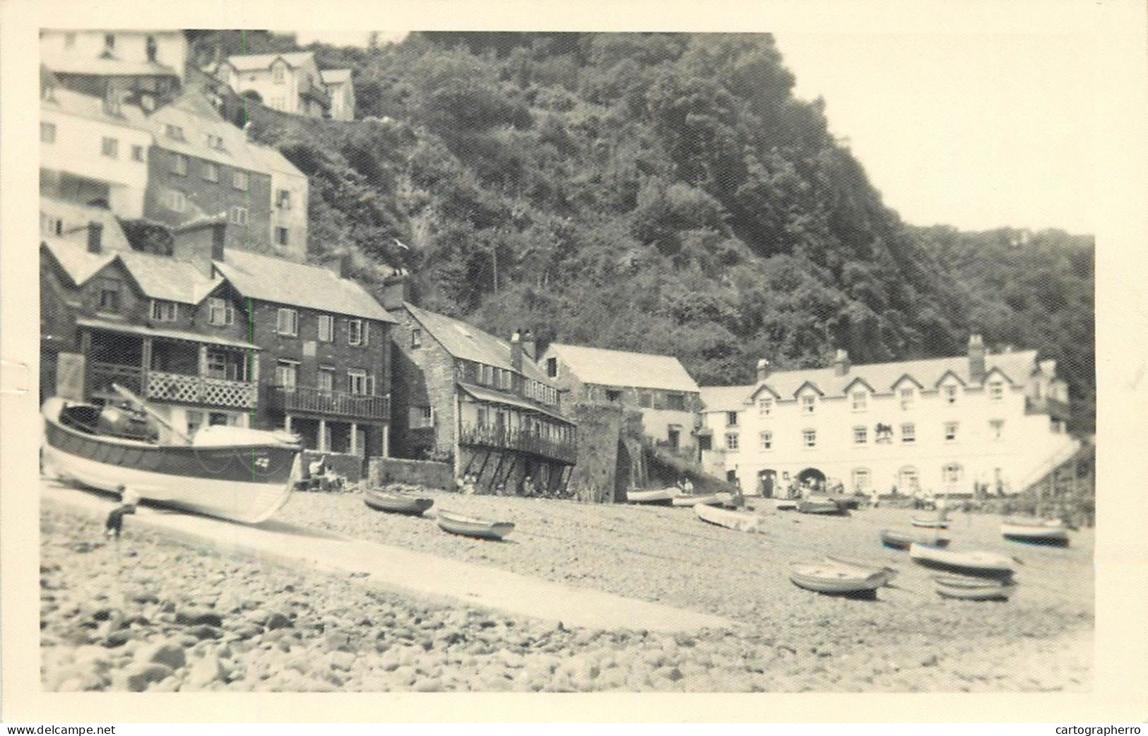
[(246, 381), (163, 371), (145, 373), (138, 365), (92, 361), (88, 369), (88, 393), (114, 396), (113, 384), (145, 398), (204, 406), (254, 409), (257, 396), (256, 385)]

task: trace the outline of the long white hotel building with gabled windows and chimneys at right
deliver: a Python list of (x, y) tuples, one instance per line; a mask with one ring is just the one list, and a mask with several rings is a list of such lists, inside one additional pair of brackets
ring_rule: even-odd
[[(1069, 458), (1068, 386), (1035, 350), (770, 372), (701, 389), (701, 460), (751, 495), (1018, 493)], [(707, 447), (708, 446), (708, 447)]]

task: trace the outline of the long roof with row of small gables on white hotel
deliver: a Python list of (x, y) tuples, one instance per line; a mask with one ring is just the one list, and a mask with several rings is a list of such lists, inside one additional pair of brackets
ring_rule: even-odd
[[(1037, 369), (1035, 350), (1018, 350), (1014, 352), (996, 352), (985, 356), (986, 374), (999, 369), (1014, 384), (1024, 384)], [(902, 378), (915, 380), (925, 389), (934, 389), (940, 380), (952, 373), (965, 386), (979, 386), (969, 373), (969, 358), (965, 355), (947, 358), (926, 358), (922, 361), (901, 361), (894, 363), (871, 363), (869, 365), (850, 366), (845, 375), (837, 375), (830, 367), (800, 371), (778, 371), (771, 373), (765, 384), (758, 385), (771, 389), (782, 398), (793, 398), (798, 389), (806, 382), (814, 386), (825, 396), (841, 396), (851, 384), (863, 380), (878, 393), (889, 393)], [(757, 392), (755, 392), (757, 393)]]

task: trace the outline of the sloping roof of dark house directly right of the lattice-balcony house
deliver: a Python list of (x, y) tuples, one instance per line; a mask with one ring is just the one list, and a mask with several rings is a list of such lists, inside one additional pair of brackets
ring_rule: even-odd
[(243, 296), (336, 315), (395, 321), (365, 288), (321, 266), (245, 250), (227, 250), (224, 261), (216, 261), (215, 266)]

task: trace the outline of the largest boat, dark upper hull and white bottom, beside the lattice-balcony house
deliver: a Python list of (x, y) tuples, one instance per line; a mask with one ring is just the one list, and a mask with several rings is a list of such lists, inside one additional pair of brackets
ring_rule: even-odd
[(101, 432), (104, 409), (44, 403), (44, 455), (65, 480), (176, 509), (258, 524), (287, 502), (301, 471), (297, 437), (242, 427), (203, 427), (191, 444), (161, 444)]

